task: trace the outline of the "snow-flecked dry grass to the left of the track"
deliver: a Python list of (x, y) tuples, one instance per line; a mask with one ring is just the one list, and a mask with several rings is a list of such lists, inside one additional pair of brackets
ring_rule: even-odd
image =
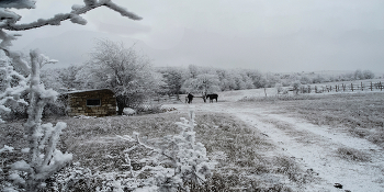
[[(180, 116), (178, 113), (157, 114), (145, 116), (114, 116), (102, 118), (70, 118), (64, 121), (68, 127), (64, 131), (58, 148), (61, 151), (74, 154), (71, 167), (64, 171), (75, 170), (80, 167), (88, 173), (104, 176), (108, 172), (124, 172), (123, 150), (133, 144), (122, 140), (116, 135), (132, 135), (140, 133), (142, 139), (162, 137), (178, 133), (174, 122)], [(207, 149), (211, 160), (215, 160), (213, 177), (197, 187), (189, 184), (192, 191), (295, 191), (303, 182), (310, 182), (300, 166), (287, 157), (264, 156), (274, 146), (267, 142), (263, 136), (252, 131), (236, 117), (225, 114), (197, 114), (195, 127), (196, 142), (201, 142)], [(53, 122), (50, 120), (50, 122)], [(2, 139), (0, 145), (12, 144), (15, 148), (22, 148), (22, 126), (20, 122), (1, 125)], [(146, 155), (146, 150), (137, 149), (132, 155), (134, 169), (140, 169), (139, 162)], [(8, 156), (5, 161), (15, 161), (15, 156)], [(77, 168), (79, 169), (79, 168)], [(78, 170), (77, 170), (78, 171)], [(145, 177), (145, 176), (143, 176)], [(49, 183), (57, 182), (54, 176)], [(302, 178), (307, 178), (305, 181)], [(104, 181), (108, 178), (104, 178)], [(103, 178), (86, 178), (70, 181), (68, 191), (94, 191), (103, 182)], [(47, 190), (49, 191), (49, 190)]]

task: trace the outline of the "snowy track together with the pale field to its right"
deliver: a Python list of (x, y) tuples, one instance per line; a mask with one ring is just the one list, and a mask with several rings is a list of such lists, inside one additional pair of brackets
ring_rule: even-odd
[[(267, 89), (268, 94), (273, 91)], [(384, 191), (383, 97), (380, 91), (358, 91), (279, 100), (266, 99), (260, 89), (224, 92), (218, 103), (196, 100), (195, 105), (197, 113), (238, 117), (276, 146), (271, 155), (291, 157), (304, 170), (313, 170), (318, 180), (304, 191), (363, 192)]]

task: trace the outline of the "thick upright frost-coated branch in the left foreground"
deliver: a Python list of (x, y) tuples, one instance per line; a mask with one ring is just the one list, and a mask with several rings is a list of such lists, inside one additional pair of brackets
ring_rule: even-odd
[(25, 150), (29, 151), (29, 158), (27, 161), (16, 161), (11, 166), (12, 170), (27, 173), (26, 180), (22, 178), (14, 180), (15, 184), (25, 183), (26, 191), (37, 191), (47, 178), (72, 159), (71, 154), (63, 154), (56, 149), (61, 129), (67, 124), (59, 122), (56, 126), (50, 123), (42, 125), (42, 113), (45, 104), (55, 101), (58, 93), (52, 89), (46, 90), (44, 84), (39, 82), (39, 56), (37, 50), (31, 52), (29, 118), (24, 125), (29, 142), (29, 148)]

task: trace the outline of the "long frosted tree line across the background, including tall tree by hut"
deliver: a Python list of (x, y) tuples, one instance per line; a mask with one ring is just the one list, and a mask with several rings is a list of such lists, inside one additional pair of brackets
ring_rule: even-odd
[(135, 46), (98, 39), (90, 59), (82, 65), (42, 70), (42, 81), (54, 90), (109, 88), (116, 94), (118, 114), (124, 108), (137, 108), (155, 95), (184, 93), (208, 94), (219, 91), (273, 87), (294, 87), (332, 81), (373, 79), (370, 70), (326, 75), (318, 72), (272, 74), (256, 69), (222, 69), (189, 65), (188, 67), (153, 67), (151, 60)]

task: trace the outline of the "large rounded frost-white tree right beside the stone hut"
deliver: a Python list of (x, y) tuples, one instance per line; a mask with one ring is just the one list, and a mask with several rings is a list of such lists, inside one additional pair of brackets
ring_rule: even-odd
[(134, 46), (125, 48), (123, 43), (109, 39), (97, 42), (80, 77), (93, 88), (113, 90), (120, 115), (124, 108), (137, 108), (163, 84), (150, 60), (139, 55)]

